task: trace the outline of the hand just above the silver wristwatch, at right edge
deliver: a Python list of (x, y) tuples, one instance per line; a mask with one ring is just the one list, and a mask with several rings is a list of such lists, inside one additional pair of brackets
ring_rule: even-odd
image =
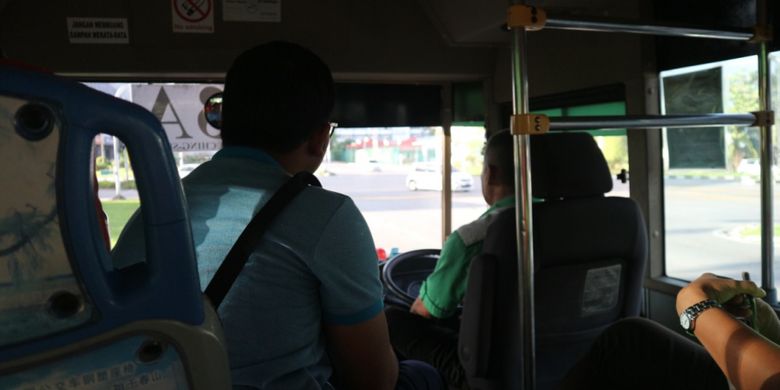
[[(734, 280), (706, 273), (684, 287), (677, 294), (677, 313), (682, 313), (683, 310), (691, 305), (706, 299), (714, 299), (727, 307), (739, 308), (742, 306), (744, 309), (743, 302), (739, 300), (742, 298), (742, 294), (748, 294), (757, 298), (766, 296), (764, 290), (749, 280)], [(737, 297), (737, 300), (730, 302)], [(735, 308), (734, 310), (737, 309)]]

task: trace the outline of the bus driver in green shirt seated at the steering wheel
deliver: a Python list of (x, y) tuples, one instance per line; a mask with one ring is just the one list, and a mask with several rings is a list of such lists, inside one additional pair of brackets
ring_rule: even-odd
[(453, 232), (441, 250), (436, 268), (423, 282), (410, 312), (388, 309), (393, 346), (410, 359), (426, 361), (442, 372), (452, 387), (465, 387), (457, 354), (457, 332), (442, 321), (457, 313), (466, 294), (471, 260), (482, 252), (488, 225), (498, 211), (514, 206), (514, 144), (509, 131), (490, 137), (482, 166), (482, 195), (490, 208), (477, 220)]

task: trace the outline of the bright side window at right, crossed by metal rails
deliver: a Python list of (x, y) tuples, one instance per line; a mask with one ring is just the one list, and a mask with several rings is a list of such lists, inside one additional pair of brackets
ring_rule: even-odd
[[(770, 58), (774, 66), (776, 53)], [(756, 111), (756, 79), (755, 56), (662, 72), (662, 107), (665, 114)], [(666, 274), (691, 280), (705, 271), (734, 278), (749, 271), (759, 280), (758, 128), (667, 128), (663, 134)]]

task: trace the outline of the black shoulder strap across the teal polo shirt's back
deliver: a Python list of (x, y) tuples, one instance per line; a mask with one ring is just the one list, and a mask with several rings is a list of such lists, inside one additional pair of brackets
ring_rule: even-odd
[(296, 174), (276, 191), (268, 203), (255, 214), (252, 221), (244, 228), (244, 231), (238, 236), (236, 243), (230, 248), (230, 252), (225, 256), (225, 260), (222, 261), (219, 269), (217, 269), (217, 273), (214, 274), (211, 282), (209, 282), (208, 287), (206, 287), (205, 294), (211, 301), (211, 304), (214, 305), (214, 309), (217, 309), (222, 303), (222, 299), (225, 298), (233, 282), (236, 281), (238, 274), (249, 259), (249, 255), (274, 218), (281, 213), (298, 193), (309, 185), (321, 187), (320, 182), (311, 173), (300, 172)]

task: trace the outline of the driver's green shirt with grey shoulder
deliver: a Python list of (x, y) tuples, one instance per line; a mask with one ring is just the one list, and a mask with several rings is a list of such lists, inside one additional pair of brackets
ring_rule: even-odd
[(420, 288), (420, 299), (431, 315), (446, 318), (455, 314), (466, 294), (471, 259), (482, 252), (488, 225), (498, 211), (514, 203), (514, 196), (499, 200), (477, 220), (461, 226), (447, 237), (436, 268)]

